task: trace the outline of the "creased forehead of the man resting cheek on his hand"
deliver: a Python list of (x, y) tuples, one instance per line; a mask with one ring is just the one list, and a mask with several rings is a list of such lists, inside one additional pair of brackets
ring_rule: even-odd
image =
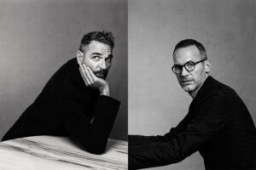
[(85, 46), (87, 53), (112, 53), (110, 46), (106, 43), (91, 41), (89, 45)]

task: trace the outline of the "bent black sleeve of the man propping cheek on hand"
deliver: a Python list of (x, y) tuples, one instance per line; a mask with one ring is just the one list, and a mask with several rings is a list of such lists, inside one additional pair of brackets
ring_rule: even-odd
[(61, 120), (74, 139), (90, 153), (102, 154), (106, 149), (109, 133), (119, 110), (119, 101), (108, 96), (99, 96), (94, 109), (95, 119), (90, 123), (86, 108), (79, 99), (62, 99)]

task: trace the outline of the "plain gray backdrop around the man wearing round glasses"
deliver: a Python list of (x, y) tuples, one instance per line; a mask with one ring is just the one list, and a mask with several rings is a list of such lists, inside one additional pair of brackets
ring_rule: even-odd
[[(172, 73), (177, 42), (195, 38), (212, 60), (211, 75), (234, 88), (256, 122), (255, 0), (129, 0), (129, 133), (167, 133), (191, 98)], [(203, 170), (199, 153), (155, 169)]]

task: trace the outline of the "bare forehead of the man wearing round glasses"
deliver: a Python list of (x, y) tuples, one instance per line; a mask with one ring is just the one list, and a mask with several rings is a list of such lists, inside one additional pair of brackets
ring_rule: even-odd
[(193, 46), (188, 46), (185, 48), (178, 48), (173, 54), (173, 61), (175, 64), (181, 64), (188, 61), (198, 61), (201, 59), (201, 54), (198, 48)]

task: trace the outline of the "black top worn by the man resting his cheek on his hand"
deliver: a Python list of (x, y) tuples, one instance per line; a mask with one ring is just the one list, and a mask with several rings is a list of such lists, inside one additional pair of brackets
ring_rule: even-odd
[[(35, 135), (69, 135), (84, 149), (102, 153), (119, 110), (119, 101), (87, 88), (76, 59), (55, 72), (41, 94), (3, 140)], [(94, 122), (90, 124), (91, 118)]]

